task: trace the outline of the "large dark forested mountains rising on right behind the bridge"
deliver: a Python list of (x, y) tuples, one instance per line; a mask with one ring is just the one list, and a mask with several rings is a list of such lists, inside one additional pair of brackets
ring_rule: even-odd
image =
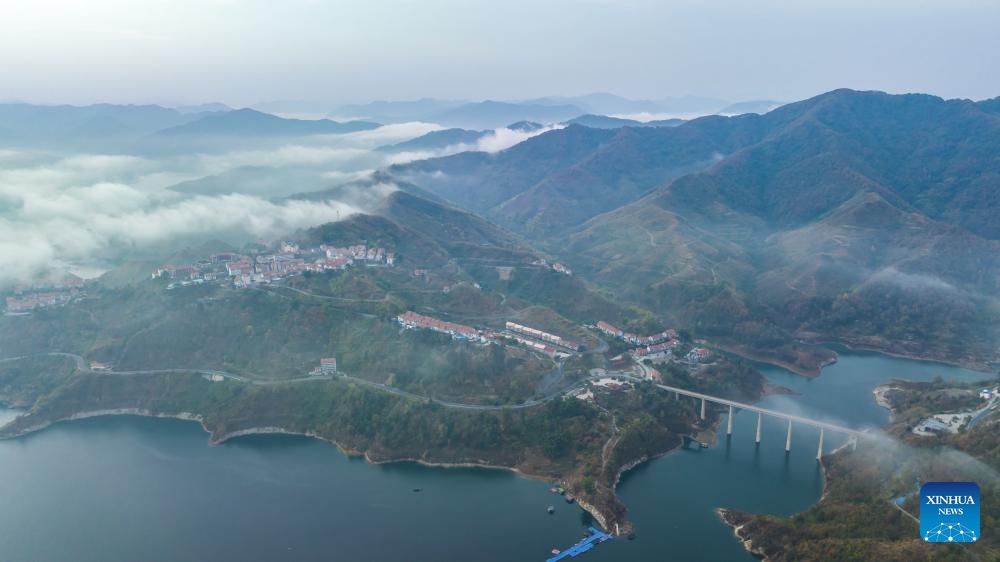
[(579, 125), (394, 176), (734, 346), (993, 356), (992, 100), (837, 90), (677, 127)]

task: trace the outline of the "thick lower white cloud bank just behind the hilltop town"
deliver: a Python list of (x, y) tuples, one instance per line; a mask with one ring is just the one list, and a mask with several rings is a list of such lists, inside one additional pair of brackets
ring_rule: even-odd
[(171, 200), (112, 183), (55, 197), (29, 194), (22, 203), (0, 218), (0, 260), (6, 264), (0, 287), (177, 239), (273, 238), (361, 211), (342, 201), (276, 203), (241, 194)]

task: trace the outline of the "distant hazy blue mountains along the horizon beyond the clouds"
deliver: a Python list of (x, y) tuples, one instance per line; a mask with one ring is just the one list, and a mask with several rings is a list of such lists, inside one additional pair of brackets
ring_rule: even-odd
[[(159, 105), (95, 104), (88, 106), (0, 104), (0, 144), (14, 147), (86, 148), (107, 152), (147, 150), (183, 151), (184, 143), (198, 150), (220, 149), (212, 142), (220, 137), (248, 140), (292, 136), (343, 134), (364, 131), (383, 123), (427, 121), (454, 129), (492, 130), (514, 122), (542, 124), (578, 123), (591, 127), (673, 126), (678, 119), (657, 120), (666, 113), (704, 114), (763, 112), (775, 102), (746, 102), (726, 106), (711, 98), (630, 100), (612, 94), (547, 97), (519, 102), (458, 101), (424, 98), (414, 101), (376, 101), (346, 105), (330, 112), (338, 120), (314, 119), (327, 112), (318, 102), (275, 101), (253, 109), (233, 109), (222, 103), (163, 107)], [(647, 114), (643, 121), (614, 116)], [(308, 119), (291, 118), (295, 115)], [(343, 117), (348, 116), (348, 117)], [(449, 133), (453, 138), (471, 133)], [(441, 146), (445, 135), (428, 140)], [(433, 137), (431, 137), (433, 139)], [(421, 141), (422, 142), (422, 141)], [(416, 144), (420, 144), (417, 142)], [(455, 143), (450, 143), (455, 144)]]

